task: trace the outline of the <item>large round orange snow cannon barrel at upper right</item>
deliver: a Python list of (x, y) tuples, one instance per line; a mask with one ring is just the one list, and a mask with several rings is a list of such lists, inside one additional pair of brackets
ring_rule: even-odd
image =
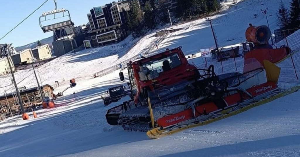
[(271, 38), (271, 30), (268, 26), (253, 26), (246, 30), (246, 39), (248, 42), (253, 42), (255, 45), (265, 45), (268, 44)]

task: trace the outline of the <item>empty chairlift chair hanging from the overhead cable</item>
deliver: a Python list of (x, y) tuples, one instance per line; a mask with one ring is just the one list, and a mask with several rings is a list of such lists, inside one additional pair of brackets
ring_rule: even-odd
[[(40, 26), (41, 26), (42, 30), (44, 31), (44, 33), (50, 32), (50, 31), (59, 30), (59, 29), (62, 29), (62, 28), (71, 27), (71, 26), (74, 25), (74, 23), (71, 20), (71, 16), (70, 16), (69, 10), (66, 10), (66, 9), (57, 9), (56, 0), (53, 0), (53, 1), (54, 1), (54, 4), (55, 4), (55, 9), (52, 10), (52, 11), (44, 12), (40, 16)], [(47, 19), (46, 19), (47, 16), (54, 15), (54, 19), (58, 19), (58, 18), (55, 17), (55, 15), (58, 14), (58, 13), (63, 13), (62, 17), (66, 17), (67, 16), (69, 19), (67, 21), (63, 21), (63, 22), (58, 22), (58, 23), (51, 24), (51, 25), (42, 26), (42, 22), (47, 21)], [(67, 15), (65, 15), (65, 13), (67, 13)], [(45, 18), (45, 19), (42, 20), (42, 18)]]

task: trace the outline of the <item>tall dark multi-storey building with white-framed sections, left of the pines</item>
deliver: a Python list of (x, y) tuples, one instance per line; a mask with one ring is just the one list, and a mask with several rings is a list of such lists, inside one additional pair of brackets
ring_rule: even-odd
[(87, 14), (90, 31), (85, 40), (96, 47), (125, 39), (129, 35), (126, 19), (131, 2), (118, 1), (92, 8)]

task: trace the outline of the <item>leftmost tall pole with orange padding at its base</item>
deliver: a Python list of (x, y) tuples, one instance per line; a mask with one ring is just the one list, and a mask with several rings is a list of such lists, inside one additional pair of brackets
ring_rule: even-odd
[(7, 59), (7, 62), (8, 62), (9, 68), (10, 68), (10, 73), (11, 73), (11, 76), (13, 77), (13, 84), (15, 86), (16, 93), (18, 95), (19, 104), (21, 106), (22, 118), (23, 118), (23, 120), (27, 120), (27, 119), (29, 119), (29, 115), (25, 112), (23, 102), (22, 102), (22, 99), (21, 99), (21, 95), (20, 95), (18, 86), (16, 84), (16, 79), (15, 79), (15, 76), (13, 74), (13, 69), (11, 68), (10, 60), (9, 60), (9, 57), (8, 57), (13, 52), (13, 47), (11, 45), (12, 44), (9, 44), (9, 45), (5, 44), (5, 45), (1, 46), (0, 47), (0, 54), (1, 54), (1, 57), (6, 57), (6, 59)]

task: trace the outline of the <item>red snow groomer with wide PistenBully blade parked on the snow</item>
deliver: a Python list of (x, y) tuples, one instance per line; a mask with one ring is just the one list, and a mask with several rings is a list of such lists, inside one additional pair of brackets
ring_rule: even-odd
[[(158, 138), (236, 114), (280, 93), (280, 68), (251, 61), (243, 74), (219, 76), (213, 65), (190, 65), (181, 47), (130, 62), (128, 84), (134, 99), (109, 109), (107, 122)], [(125, 80), (122, 72), (120, 79)]]

